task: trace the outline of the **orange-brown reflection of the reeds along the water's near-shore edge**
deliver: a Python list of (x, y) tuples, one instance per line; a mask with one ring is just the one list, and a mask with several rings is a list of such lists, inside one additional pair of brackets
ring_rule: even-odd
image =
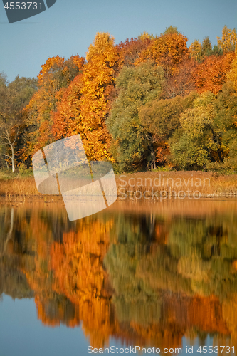
[[(1, 197), (0, 197), (1, 198)], [(22, 198), (22, 197), (21, 197)], [(30, 197), (29, 199), (0, 199), (1, 209), (14, 209), (16, 211), (51, 211), (53, 214), (66, 216), (67, 212), (63, 199), (57, 197), (57, 199), (38, 199), (38, 197)], [(83, 219), (90, 221), (90, 219), (101, 219), (102, 216), (112, 218), (112, 216), (120, 214), (125, 216), (147, 216), (147, 219), (152, 219), (157, 216), (157, 219), (173, 219), (175, 216), (186, 216), (191, 219), (192, 217), (199, 216), (200, 219), (209, 219), (210, 216), (216, 216), (217, 213), (221, 215), (229, 214), (229, 211), (233, 215), (237, 211), (237, 197), (230, 198), (200, 198), (200, 199), (171, 199), (167, 201), (115, 201), (114, 204), (98, 211), (98, 213), (87, 216)], [(38, 213), (37, 213), (38, 214)]]

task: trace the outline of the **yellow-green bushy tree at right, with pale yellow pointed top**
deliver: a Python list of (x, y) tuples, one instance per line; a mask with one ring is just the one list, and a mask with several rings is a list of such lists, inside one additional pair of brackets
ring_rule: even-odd
[(209, 160), (223, 161), (221, 128), (216, 125), (215, 95), (203, 93), (180, 116), (181, 130), (170, 141), (172, 162), (178, 169), (200, 169)]

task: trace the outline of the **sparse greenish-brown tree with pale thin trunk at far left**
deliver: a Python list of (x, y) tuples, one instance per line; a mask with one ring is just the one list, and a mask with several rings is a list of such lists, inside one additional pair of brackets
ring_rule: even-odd
[(19, 78), (7, 83), (4, 75), (0, 75), (0, 129), (1, 146), (4, 156), (11, 159), (12, 172), (16, 167), (16, 149), (22, 139), (21, 130), (25, 124), (23, 108), (28, 104), (36, 91), (37, 80), (34, 78)]

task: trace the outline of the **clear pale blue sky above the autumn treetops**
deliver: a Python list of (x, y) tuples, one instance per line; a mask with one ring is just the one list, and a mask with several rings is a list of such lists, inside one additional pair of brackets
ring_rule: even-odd
[(48, 57), (84, 56), (97, 32), (109, 32), (120, 43), (170, 25), (188, 44), (205, 36), (216, 44), (223, 26), (237, 28), (237, 0), (57, 0), (43, 13), (11, 24), (0, 0), (0, 72), (10, 81), (36, 77)]

